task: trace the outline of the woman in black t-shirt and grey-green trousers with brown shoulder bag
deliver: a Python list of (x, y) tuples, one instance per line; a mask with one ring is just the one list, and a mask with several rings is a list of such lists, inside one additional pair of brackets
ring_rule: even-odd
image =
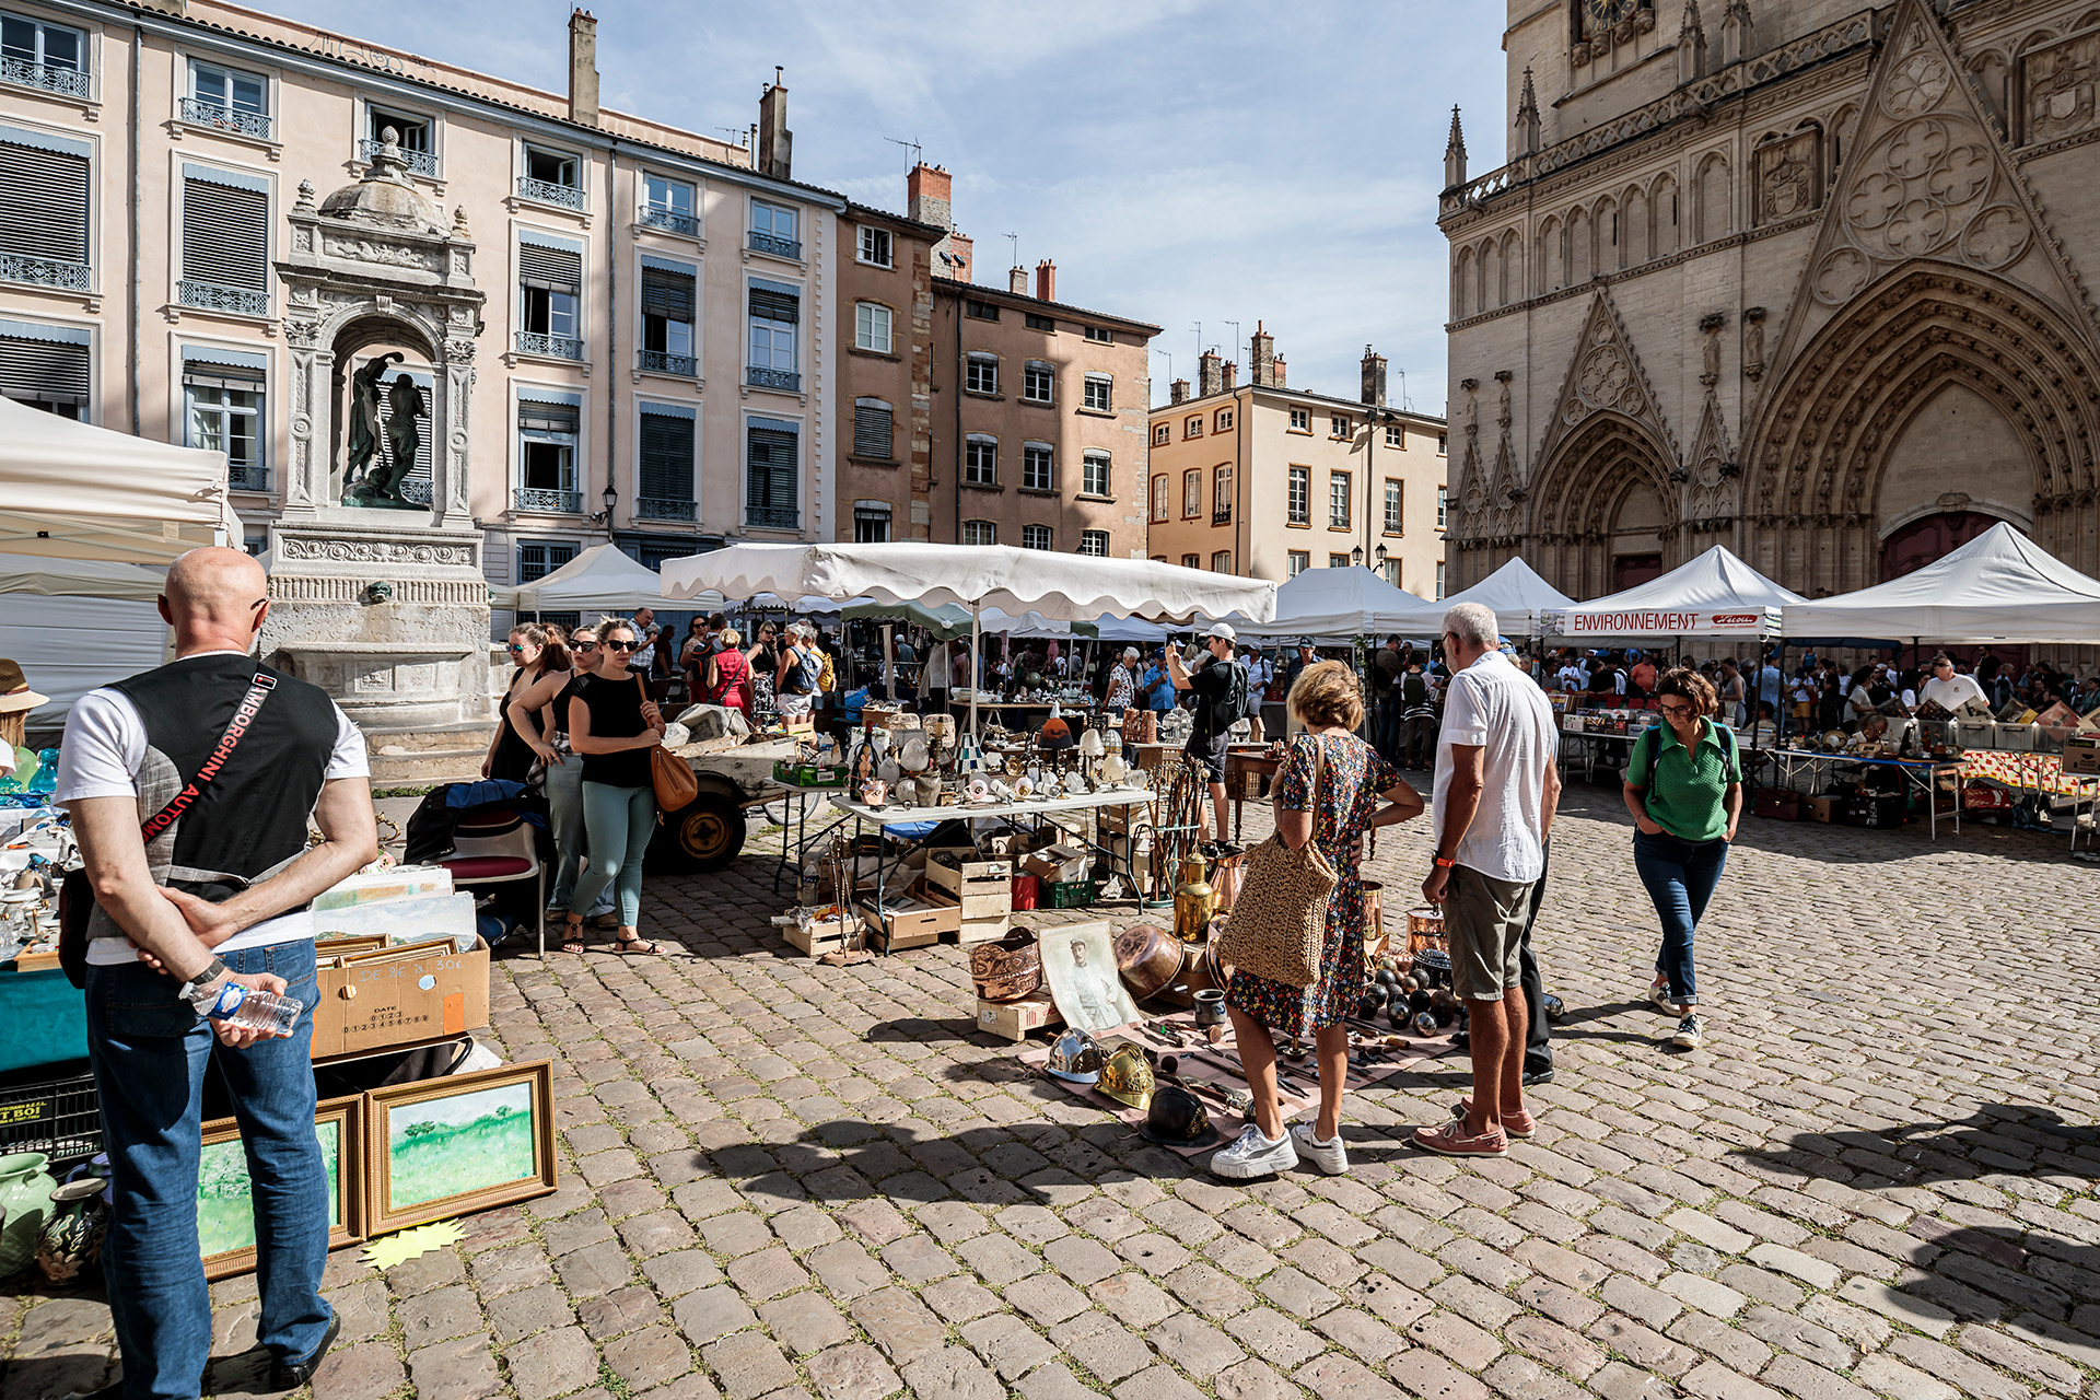
[(643, 854), (655, 835), (655, 785), (649, 749), (664, 743), (664, 716), (628, 670), (638, 636), (620, 617), (598, 621), (596, 665), (582, 672), (567, 693), (569, 747), (584, 756), (584, 833), (590, 869), (569, 894), (565, 953), (584, 951), (584, 911), (607, 886), (617, 900), (622, 953), (655, 953), (636, 928), (643, 907)]

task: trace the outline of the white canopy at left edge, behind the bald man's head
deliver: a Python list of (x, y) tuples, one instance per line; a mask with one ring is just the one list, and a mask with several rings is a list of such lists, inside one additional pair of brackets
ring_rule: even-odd
[(229, 542), (239, 546), (242, 527), (225, 453), (0, 399), (0, 552), (166, 565)]

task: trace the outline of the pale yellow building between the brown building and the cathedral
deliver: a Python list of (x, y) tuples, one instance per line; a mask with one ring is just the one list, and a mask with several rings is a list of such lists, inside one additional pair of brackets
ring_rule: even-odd
[(1151, 411), (1151, 556), (1279, 584), (1367, 565), (1441, 598), (1445, 422), (1390, 407), (1369, 346), (1357, 399), (1292, 388), (1260, 323), (1250, 348), (1252, 382), (1205, 351)]

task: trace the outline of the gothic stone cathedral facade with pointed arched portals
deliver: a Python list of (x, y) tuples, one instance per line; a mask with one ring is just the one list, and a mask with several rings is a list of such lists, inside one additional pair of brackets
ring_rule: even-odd
[[(2100, 8), (1512, 0), (1453, 120), (1453, 588), (1724, 544), (1823, 596), (1997, 521), (2100, 569)], [(1476, 128), (1478, 132), (1478, 128)]]

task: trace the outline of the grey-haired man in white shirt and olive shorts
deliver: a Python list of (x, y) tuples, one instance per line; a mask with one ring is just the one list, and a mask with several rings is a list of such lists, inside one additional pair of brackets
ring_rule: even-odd
[(1422, 898), (1445, 911), (1451, 989), (1466, 1001), (1472, 1098), (1415, 1144), (1447, 1157), (1504, 1157), (1535, 1129), (1525, 1108), (1525, 1005), (1518, 955), (1531, 886), (1560, 804), (1558, 735), (1546, 693), (1495, 646), (1495, 613), (1445, 613), (1443, 733), (1436, 737), (1434, 869)]

